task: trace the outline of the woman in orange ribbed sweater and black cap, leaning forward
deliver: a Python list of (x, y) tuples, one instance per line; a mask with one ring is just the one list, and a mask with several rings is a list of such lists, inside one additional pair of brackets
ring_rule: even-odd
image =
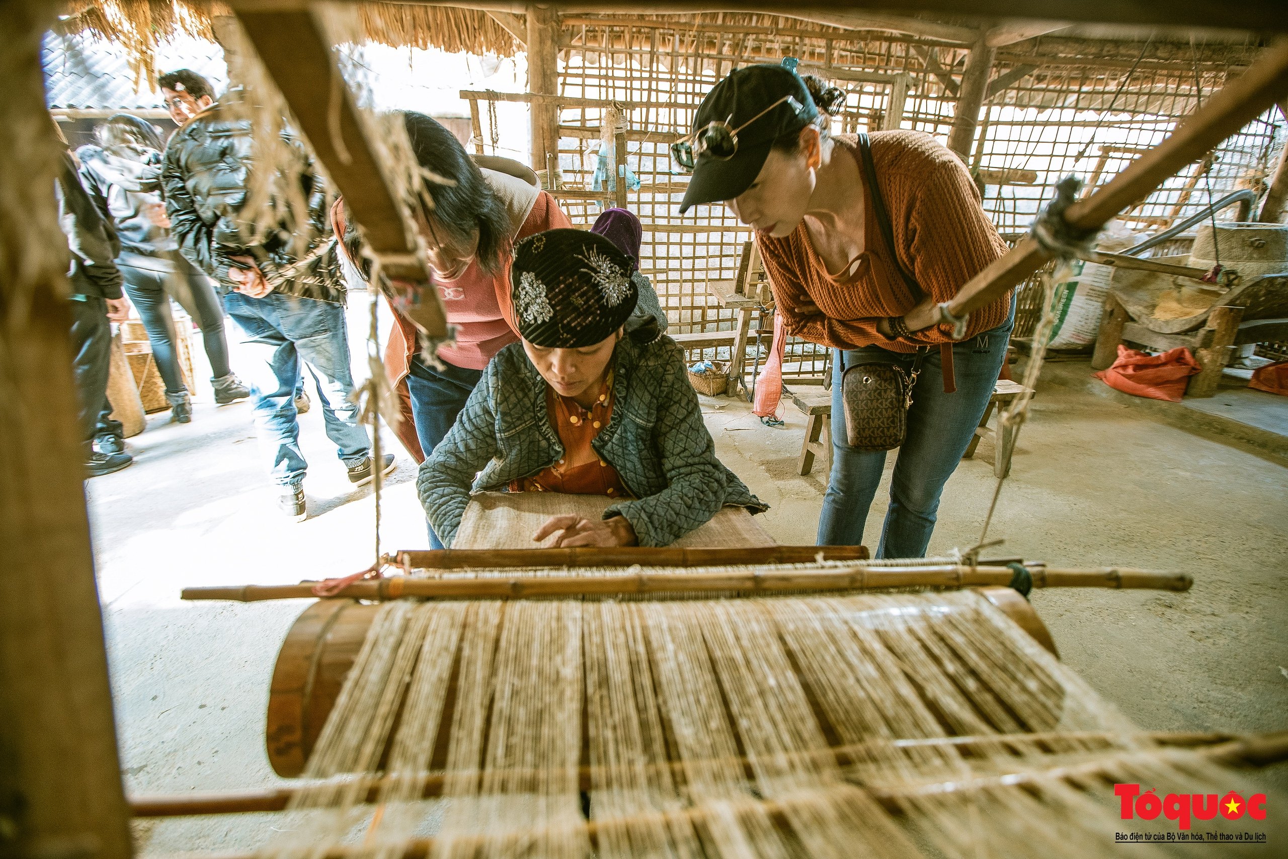
[(828, 134), (841, 99), (783, 66), (729, 75), (677, 151), (693, 166), (680, 211), (724, 201), (751, 224), (787, 331), (836, 350), (819, 545), (863, 542), (886, 458), (846, 443), (841, 373), (873, 361), (920, 370), (877, 545), (878, 558), (918, 558), (1006, 359), (1014, 296), (971, 314), (958, 340), (948, 321), (909, 331), (904, 317), (952, 299), (1006, 243), (966, 167), (930, 135)]

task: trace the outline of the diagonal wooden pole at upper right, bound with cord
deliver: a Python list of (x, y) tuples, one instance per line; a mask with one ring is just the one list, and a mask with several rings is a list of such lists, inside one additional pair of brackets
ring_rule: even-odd
[[(1284, 17), (1280, 6), (1279, 18)], [(1255, 120), (1288, 93), (1288, 37), (1280, 37), (1242, 76), (1206, 99), (1157, 147), (1140, 156), (1090, 197), (1065, 211), (1068, 224), (1078, 231), (1104, 227), (1121, 211), (1144, 200), (1158, 185)], [(1046, 264), (1054, 254), (1032, 236), (1020, 240), (1005, 256), (967, 281), (948, 310), (962, 317), (992, 304)], [(908, 328), (920, 331), (939, 322), (939, 308), (913, 310)]]

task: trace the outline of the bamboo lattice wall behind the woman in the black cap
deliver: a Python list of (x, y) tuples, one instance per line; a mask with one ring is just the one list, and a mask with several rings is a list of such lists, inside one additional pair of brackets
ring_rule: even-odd
[[(598, 193), (592, 185), (607, 103), (616, 103), (627, 129), (627, 167), (640, 183), (630, 189), (627, 203), (644, 223), (641, 268), (657, 287), (672, 331), (728, 330), (733, 323), (733, 314), (708, 296), (707, 285), (735, 277), (750, 231), (724, 206), (699, 206), (681, 218), (679, 201), (688, 178), (668, 153), (670, 143), (688, 131), (702, 95), (723, 76), (748, 63), (796, 57), (802, 71), (828, 77), (849, 94), (835, 131), (893, 127), (889, 111), (899, 95), (891, 81), (899, 79), (905, 98), (898, 127), (947, 140), (965, 49), (927, 39), (857, 40), (853, 32), (783, 23), (757, 15), (737, 15), (735, 22), (721, 22), (719, 15), (703, 15), (701, 22), (564, 19), (559, 91), (605, 107), (562, 111), (556, 194), (573, 222), (583, 225), (612, 205), (613, 178), (600, 175)], [(985, 180), (1005, 171), (1009, 182), (1024, 184), (985, 184), (985, 210), (1003, 233), (1025, 231), (1061, 176), (1073, 171), (1104, 184), (1162, 140), (1177, 118), (1240, 71), (1252, 54), (1243, 45), (1066, 39), (1003, 48), (970, 166)], [(1157, 231), (1227, 191), (1260, 188), (1266, 165), (1283, 146), (1284, 129), (1276, 118), (1269, 112), (1215, 157), (1166, 183), (1127, 212), (1128, 225)], [(1233, 215), (1233, 209), (1224, 212)], [(1016, 336), (1036, 321), (1036, 285), (1032, 279), (1020, 296)], [(768, 345), (765, 336), (762, 352)], [(724, 358), (724, 352), (705, 357)], [(823, 349), (792, 339), (786, 375), (818, 376), (823, 361)]]

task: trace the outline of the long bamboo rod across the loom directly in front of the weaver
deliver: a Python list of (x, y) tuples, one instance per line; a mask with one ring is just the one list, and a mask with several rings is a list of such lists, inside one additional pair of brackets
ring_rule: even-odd
[[(1029, 569), (1034, 587), (1115, 587), (1185, 591), (1189, 573), (1105, 567), (1100, 569)], [(393, 576), (357, 581), (331, 594), (339, 599), (388, 600), (402, 596), (429, 599), (527, 599), (536, 596), (603, 596), (609, 594), (710, 594), (743, 591), (853, 591), (882, 587), (980, 587), (1010, 585), (1009, 567), (842, 567), (837, 569), (746, 573), (622, 573), (616, 576), (524, 576), (506, 578), (419, 578)], [(185, 587), (185, 600), (259, 600), (316, 596), (313, 585), (234, 585)]]

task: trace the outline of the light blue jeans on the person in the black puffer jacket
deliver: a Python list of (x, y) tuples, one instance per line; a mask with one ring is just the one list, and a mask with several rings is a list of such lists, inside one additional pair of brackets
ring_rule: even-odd
[(361, 464), (371, 453), (371, 439), (358, 422), (349, 370), (349, 339), (344, 308), (328, 301), (299, 299), (269, 292), (252, 299), (241, 292), (224, 295), (224, 309), (245, 335), (245, 343), (260, 362), (252, 362), (251, 406), (260, 449), (268, 460), (269, 477), (281, 486), (304, 480), (308, 462), (300, 452), (300, 425), (295, 412), (295, 388), (300, 364), (307, 363), (317, 380), (326, 434), (336, 444), (345, 466)]

